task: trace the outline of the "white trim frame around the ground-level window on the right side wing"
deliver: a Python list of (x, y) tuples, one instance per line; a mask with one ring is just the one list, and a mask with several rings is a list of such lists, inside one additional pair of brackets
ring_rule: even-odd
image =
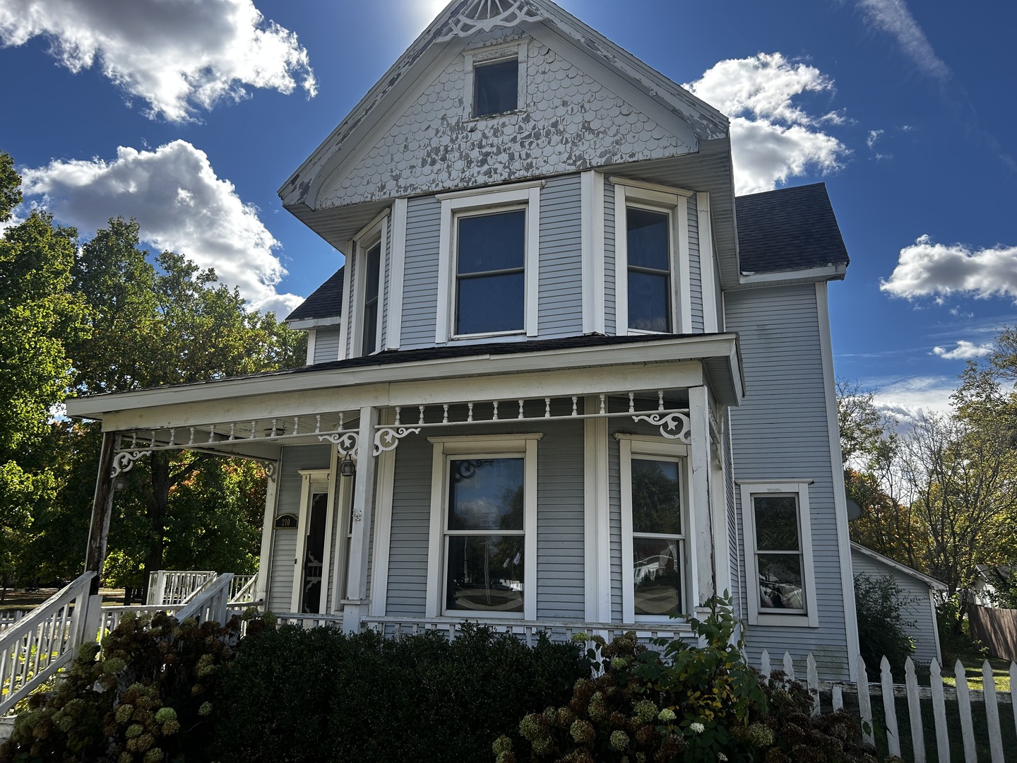
[[(756, 480), (739, 482), (741, 489), (741, 527), (745, 538), (745, 599), (749, 624), (753, 626), (790, 626), (819, 628), (816, 606), (816, 570), (813, 566), (813, 531), (809, 510), (811, 480)], [(760, 606), (759, 567), (756, 556), (756, 512), (754, 495), (794, 493), (798, 498), (798, 542), (801, 546), (801, 584), (805, 589), (804, 612), (776, 612)]]

